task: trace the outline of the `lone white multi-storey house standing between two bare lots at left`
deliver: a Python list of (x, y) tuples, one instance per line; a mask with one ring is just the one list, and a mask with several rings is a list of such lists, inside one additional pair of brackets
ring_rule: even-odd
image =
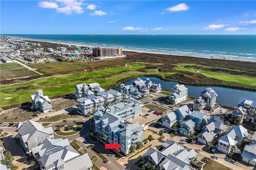
[(36, 90), (30, 97), (34, 109), (43, 113), (52, 111), (52, 103), (48, 96), (44, 96), (43, 90)]

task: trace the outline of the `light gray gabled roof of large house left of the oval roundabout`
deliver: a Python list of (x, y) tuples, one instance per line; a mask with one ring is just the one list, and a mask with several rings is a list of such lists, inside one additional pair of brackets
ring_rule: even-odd
[(22, 140), (25, 142), (32, 137), (32, 135), (36, 132), (40, 131), (42, 133), (51, 134), (53, 133), (52, 127), (44, 128), (40, 123), (34, 122), (32, 120), (27, 120), (24, 125), (22, 125), (19, 129), (19, 134), (22, 137)]

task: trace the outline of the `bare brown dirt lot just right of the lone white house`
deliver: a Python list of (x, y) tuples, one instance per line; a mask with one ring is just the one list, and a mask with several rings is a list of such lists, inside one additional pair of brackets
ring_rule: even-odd
[(57, 99), (52, 99), (52, 108), (54, 111), (60, 111), (62, 109), (66, 109), (69, 107), (76, 106), (76, 99), (72, 98), (71, 96), (67, 96), (64, 98), (57, 98)]

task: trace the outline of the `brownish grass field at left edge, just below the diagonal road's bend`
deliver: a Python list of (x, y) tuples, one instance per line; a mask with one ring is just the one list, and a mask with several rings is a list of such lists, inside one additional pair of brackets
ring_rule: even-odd
[(28, 70), (28, 68), (19, 68), (14, 70), (1, 70), (1, 79), (18, 78), (24, 76), (37, 76), (34, 71)]

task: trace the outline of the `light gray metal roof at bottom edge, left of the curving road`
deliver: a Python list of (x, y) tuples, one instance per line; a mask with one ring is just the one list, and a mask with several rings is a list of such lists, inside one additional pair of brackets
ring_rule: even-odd
[(67, 170), (87, 170), (90, 167), (92, 167), (92, 161), (87, 153), (64, 164), (64, 168)]

